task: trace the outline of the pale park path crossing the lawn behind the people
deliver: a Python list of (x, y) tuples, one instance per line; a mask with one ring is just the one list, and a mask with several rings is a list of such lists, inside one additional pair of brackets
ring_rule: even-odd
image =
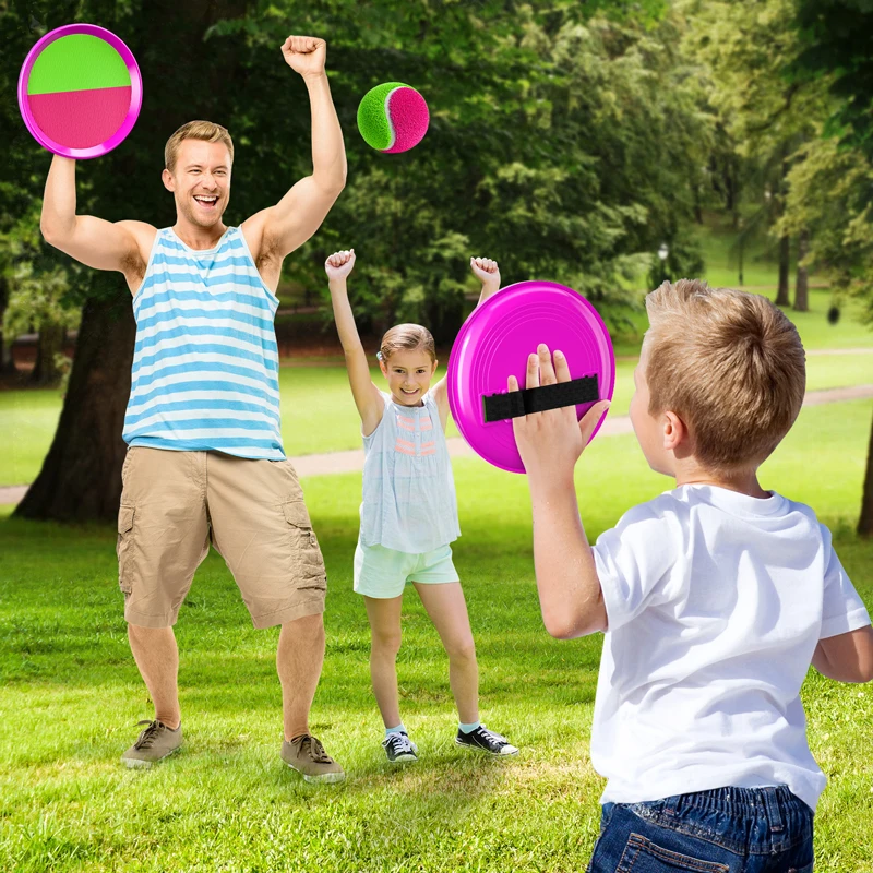
[[(848, 354), (848, 352), (847, 352)], [(861, 400), (873, 397), (873, 384), (854, 385), (847, 388), (828, 388), (826, 391), (809, 391), (803, 398), (804, 406), (821, 406), (825, 403), (844, 400)], [(633, 432), (629, 416), (607, 418), (599, 433), (615, 436)], [(449, 454), (452, 457), (474, 457), (476, 453), (459, 436), (446, 440)], [(335, 473), (360, 473), (363, 469), (363, 449), (345, 452), (325, 452), (315, 455), (298, 455), (289, 458), (298, 476), (327, 476)], [(27, 492), (26, 485), (0, 488), (0, 505), (19, 503)]]

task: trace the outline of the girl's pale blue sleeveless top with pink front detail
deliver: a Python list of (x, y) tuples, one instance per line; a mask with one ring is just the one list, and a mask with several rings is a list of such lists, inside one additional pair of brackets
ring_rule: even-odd
[(385, 411), (363, 438), (360, 539), (364, 546), (429, 552), (461, 536), (440, 410), (430, 393), (423, 406), (400, 406), (380, 394)]

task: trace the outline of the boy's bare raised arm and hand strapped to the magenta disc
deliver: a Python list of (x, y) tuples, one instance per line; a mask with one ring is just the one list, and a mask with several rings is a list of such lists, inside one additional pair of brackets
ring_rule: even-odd
[[(528, 388), (569, 382), (566, 359), (555, 351), (552, 367), (549, 349), (539, 346), (528, 358), (526, 381)], [(509, 390), (518, 391), (515, 376), (510, 376)], [(608, 406), (608, 400), (595, 404), (578, 422), (575, 406), (513, 419), (530, 488), (542, 621), (559, 639), (607, 630), (603, 594), (579, 518), (573, 469)]]

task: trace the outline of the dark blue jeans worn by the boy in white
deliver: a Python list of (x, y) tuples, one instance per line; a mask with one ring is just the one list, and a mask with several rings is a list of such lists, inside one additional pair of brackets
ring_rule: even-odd
[(605, 803), (588, 873), (812, 873), (812, 821), (786, 786)]

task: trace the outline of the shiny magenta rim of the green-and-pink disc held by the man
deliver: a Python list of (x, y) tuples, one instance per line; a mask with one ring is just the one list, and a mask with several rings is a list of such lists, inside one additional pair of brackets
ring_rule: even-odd
[[(70, 146), (62, 145), (55, 142), (50, 136), (47, 136), (43, 129), (37, 124), (36, 119), (31, 111), (29, 103), (27, 100), (27, 82), (31, 77), (31, 70), (39, 53), (46, 46), (60, 39), (63, 36), (71, 36), (72, 34), (87, 34), (88, 36), (96, 36), (108, 43), (124, 61), (130, 74), (130, 106), (128, 113), (121, 127), (105, 142), (97, 145), (88, 146), (87, 148), (71, 148)], [(47, 33), (39, 41), (27, 52), (24, 59), (24, 65), (21, 68), (19, 74), (19, 109), (21, 117), (24, 120), (24, 125), (29, 131), (31, 135), (49, 152), (61, 157), (70, 157), (76, 160), (86, 160), (93, 157), (101, 157), (103, 155), (111, 152), (127, 139), (128, 134), (133, 130), (136, 119), (140, 116), (140, 109), (143, 105), (143, 81), (140, 75), (140, 67), (133, 52), (128, 46), (117, 37), (111, 31), (100, 27), (96, 24), (65, 24), (63, 27)]]

